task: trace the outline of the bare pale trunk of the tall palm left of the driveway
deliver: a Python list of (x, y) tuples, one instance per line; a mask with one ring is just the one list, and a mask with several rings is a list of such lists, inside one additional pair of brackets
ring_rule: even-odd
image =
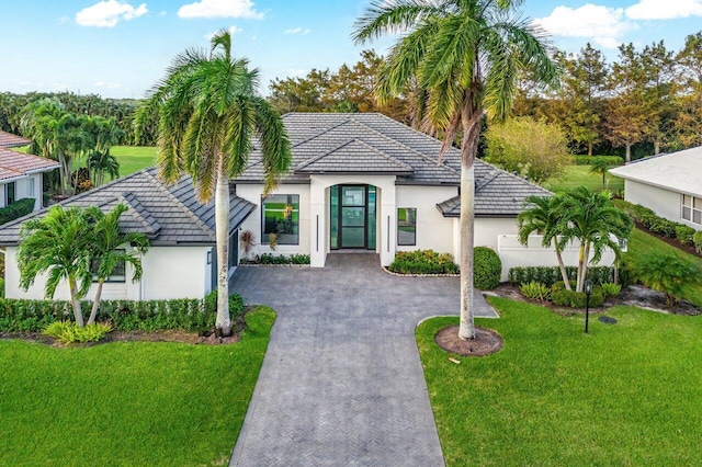
[(224, 168), (224, 156), (217, 162), (215, 187), (215, 224), (217, 237), (217, 319), (215, 328), (222, 335), (231, 334), (229, 318), (229, 179)]

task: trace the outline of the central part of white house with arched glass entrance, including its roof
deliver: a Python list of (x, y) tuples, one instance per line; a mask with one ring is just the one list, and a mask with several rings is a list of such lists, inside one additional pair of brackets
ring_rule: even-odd
[[(256, 151), (233, 181), (238, 196), (259, 206), (241, 225), (259, 240), (254, 254), (309, 254), (313, 267), (339, 250), (374, 251), (383, 265), (397, 251), (458, 257), (460, 150), (439, 161), (441, 141), (381, 114), (291, 113), (283, 121), (293, 162), (276, 190), (262, 196)], [(524, 198), (550, 194), (476, 160), (475, 244), (499, 252), (500, 238), (517, 235)]]

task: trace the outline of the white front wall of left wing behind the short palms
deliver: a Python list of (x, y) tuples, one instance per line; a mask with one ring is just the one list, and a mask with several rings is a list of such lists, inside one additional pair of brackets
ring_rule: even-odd
[[(202, 298), (205, 296), (210, 247), (151, 247), (141, 259), (144, 274), (140, 282), (131, 281), (133, 271), (127, 264), (124, 283), (104, 283), (103, 299), (150, 300), (168, 298)], [(24, 292), (20, 287), (20, 271), (16, 263), (16, 247), (8, 247), (5, 252), (5, 297), (44, 299), (45, 276), (37, 276), (34, 284)], [(92, 299), (95, 284), (86, 299)], [(70, 298), (68, 284), (61, 283), (54, 298)]]

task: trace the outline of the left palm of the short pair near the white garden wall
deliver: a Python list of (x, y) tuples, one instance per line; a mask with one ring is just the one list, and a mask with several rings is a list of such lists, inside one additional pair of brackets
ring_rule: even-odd
[(556, 251), (556, 259), (558, 260), (558, 267), (561, 269), (561, 276), (563, 277), (566, 289), (571, 291), (566, 266), (563, 263), (562, 252), (564, 243), (558, 239), (558, 237), (565, 234), (567, 227), (567, 212), (563, 208), (563, 195), (529, 196), (524, 201), (524, 205), (530, 207), (522, 210), (517, 217), (519, 242), (526, 246), (529, 236), (536, 232), (543, 236), (541, 244), (544, 248), (548, 248), (553, 243), (553, 248)]

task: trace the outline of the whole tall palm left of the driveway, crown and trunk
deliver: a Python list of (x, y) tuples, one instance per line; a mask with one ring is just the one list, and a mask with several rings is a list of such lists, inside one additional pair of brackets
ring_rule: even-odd
[(229, 179), (246, 168), (252, 138), (265, 170), (265, 192), (285, 173), (291, 145), (280, 115), (256, 91), (258, 71), (230, 55), (231, 36), (220, 31), (210, 54), (189, 49), (176, 57), (166, 77), (149, 92), (136, 115), (137, 139), (149, 116), (158, 113), (158, 176), (174, 183), (181, 172), (193, 179), (201, 202), (215, 200), (217, 242), (216, 327), (228, 335)]

